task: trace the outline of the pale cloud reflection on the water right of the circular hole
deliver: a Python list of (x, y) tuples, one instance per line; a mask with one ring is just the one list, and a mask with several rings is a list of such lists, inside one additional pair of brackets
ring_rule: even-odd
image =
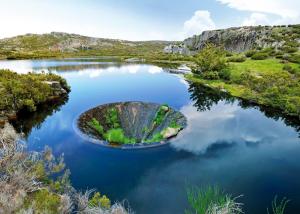
[(282, 121), (268, 119), (256, 109), (241, 109), (238, 102), (226, 104), (219, 101), (210, 111), (197, 111), (190, 104), (182, 107), (181, 112), (187, 117), (188, 126), (172, 140), (171, 145), (177, 150), (195, 154), (205, 153), (215, 144), (272, 143), (279, 136), (288, 139), (296, 134), (284, 129)]

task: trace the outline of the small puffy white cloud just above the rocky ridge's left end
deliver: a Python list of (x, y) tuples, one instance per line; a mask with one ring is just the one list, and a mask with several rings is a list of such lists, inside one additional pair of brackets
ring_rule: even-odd
[(210, 12), (206, 10), (198, 10), (193, 17), (184, 23), (184, 36), (193, 36), (201, 34), (205, 30), (213, 30), (216, 28), (214, 21), (210, 17)]

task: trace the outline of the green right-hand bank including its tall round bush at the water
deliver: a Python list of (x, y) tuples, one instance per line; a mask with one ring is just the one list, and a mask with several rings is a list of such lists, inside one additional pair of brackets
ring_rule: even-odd
[(206, 46), (195, 57), (197, 67), (193, 75), (186, 75), (187, 79), (300, 117), (299, 63), (274, 57), (273, 48), (248, 51), (245, 60), (232, 60), (241, 55), (230, 56), (226, 63), (226, 56), (220, 49)]

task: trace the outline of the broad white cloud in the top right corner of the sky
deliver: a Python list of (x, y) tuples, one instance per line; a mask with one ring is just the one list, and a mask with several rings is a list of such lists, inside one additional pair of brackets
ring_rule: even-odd
[(244, 25), (295, 24), (300, 22), (299, 0), (217, 1), (236, 10), (253, 12), (249, 18), (244, 20)]

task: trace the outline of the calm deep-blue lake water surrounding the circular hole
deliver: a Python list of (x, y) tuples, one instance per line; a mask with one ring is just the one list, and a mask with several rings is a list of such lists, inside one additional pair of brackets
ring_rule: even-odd
[[(183, 213), (189, 185), (217, 184), (240, 196), (246, 213), (266, 213), (275, 195), (288, 197), (287, 213), (300, 212), (299, 121), (283, 118), (152, 65), (97, 60), (0, 61), (20, 73), (51, 70), (72, 87), (59, 108), (24, 118), (28, 148), (49, 145), (64, 154), (77, 189), (96, 188), (136, 213)], [(148, 150), (103, 148), (81, 139), (73, 124), (83, 111), (109, 102), (167, 103), (188, 119), (172, 142)], [(266, 116), (268, 115), (268, 116)], [(34, 118), (34, 119), (32, 119)], [(287, 125), (289, 124), (289, 125)], [(27, 126), (27, 128), (25, 128)], [(298, 131), (296, 131), (298, 129)]]

